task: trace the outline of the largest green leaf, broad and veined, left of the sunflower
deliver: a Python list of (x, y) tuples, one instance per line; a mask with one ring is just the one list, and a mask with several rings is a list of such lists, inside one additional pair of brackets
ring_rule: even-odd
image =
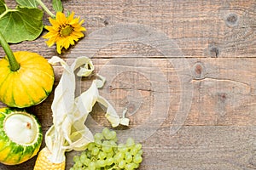
[(43, 31), (43, 11), (25, 7), (8, 9), (0, 18), (0, 30), (7, 42), (32, 41)]

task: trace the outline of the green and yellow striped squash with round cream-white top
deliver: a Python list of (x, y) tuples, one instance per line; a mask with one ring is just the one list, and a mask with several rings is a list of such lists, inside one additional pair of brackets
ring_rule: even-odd
[(0, 162), (16, 165), (37, 155), (43, 133), (36, 116), (24, 110), (0, 109)]

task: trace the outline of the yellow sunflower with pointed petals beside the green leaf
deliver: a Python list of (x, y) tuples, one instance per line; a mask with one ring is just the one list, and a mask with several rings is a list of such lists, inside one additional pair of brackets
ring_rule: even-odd
[(49, 39), (46, 43), (51, 47), (56, 42), (58, 54), (61, 54), (62, 48), (67, 49), (70, 45), (78, 42), (79, 38), (84, 37), (82, 31), (86, 31), (86, 29), (81, 26), (84, 20), (73, 18), (73, 15), (72, 12), (66, 17), (65, 14), (57, 12), (55, 19), (49, 18), (52, 26), (45, 26), (45, 29), (49, 31), (44, 35), (44, 38)]

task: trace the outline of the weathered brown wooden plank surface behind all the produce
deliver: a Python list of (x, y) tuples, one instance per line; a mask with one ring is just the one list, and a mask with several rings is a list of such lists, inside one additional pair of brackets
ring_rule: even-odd
[[(50, 0), (43, 1), (50, 7)], [(130, 135), (143, 144), (140, 169), (256, 169), (255, 1), (62, 2), (85, 20), (87, 31), (61, 58), (72, 63), (87, 55), (107, 77), (100, 93), (117, 111), (128, 108), (130, 129), (118, 130), (120, 139)], [(57, 55), (44, 41), (38, 37), (11, 48), (47, 59)], [(55, 66), (55, 86), (61, 71)], [(90, 79), (78, 82), (79, 92), (90, 86)], [(44, 133), (52, 124), (53, 97), (28, 108)], [(99, 106), (93, 112), (93, 132), (109, 127)], [(74, 154), (67, 153), (67, 169)], [(35, 159), (0, 169), (31, 170)]]

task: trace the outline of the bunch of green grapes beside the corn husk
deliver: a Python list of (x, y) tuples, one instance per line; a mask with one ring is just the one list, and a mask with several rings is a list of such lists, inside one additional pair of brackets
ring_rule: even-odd
[(116, 132), (107, 127), (96, 133), (94, 139), (86, 150), (73, 157), (70, 170), (132, 170), (143, 161), (142, 144), (131, 138), (125, 144), (118, 144)]

